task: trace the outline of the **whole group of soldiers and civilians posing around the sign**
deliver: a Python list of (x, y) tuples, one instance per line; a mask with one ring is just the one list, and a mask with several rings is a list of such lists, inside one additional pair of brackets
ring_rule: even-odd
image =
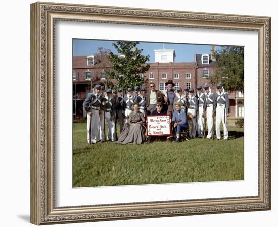
[[(118, 92), (96, 85), (83, 103), (87, 112), (87, 141), (95, 144), (105, 141), (105, 121), (108, 123), (107, 140), (120, 144), (141, 144), (150, 142), (146, 135), (146, 116), (169, 115), (172, 123), (175, 142), (180, 141), (182, 131), (188, 130), (189, 137), (203, 138), (205, 124), (207, 139), (212, 138), (214, 118), (216, 117), (216, 138), (220, 139), (220, 124), (222, 122), (224, 140), (228, 139), (227, 117), (229, 116), (229, 98), (221, 83), (217, 92), (212, 93), (209, 85), (193, 88), (174, 89), (172, 80), (165, 83), (167, 89), (156, 90), (155, 84), (149, 84), (149, 90), (135, 86), (123, 88)], [(206, 118), (206, 123), (205, 123)], [(117, 122), (120, 135), (117, 137)]]

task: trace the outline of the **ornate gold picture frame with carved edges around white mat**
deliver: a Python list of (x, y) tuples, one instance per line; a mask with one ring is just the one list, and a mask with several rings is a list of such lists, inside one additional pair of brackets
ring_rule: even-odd
[[(58, 21), (258, 32), (258, 195), (58, 207), (55, 194), (55, 94), (59, 89), (55, 86), (55, 29)], [(31, 223), (40, 225), (271, 209), (270, 35), (270, 17), (42, 2), (31, 4)]]

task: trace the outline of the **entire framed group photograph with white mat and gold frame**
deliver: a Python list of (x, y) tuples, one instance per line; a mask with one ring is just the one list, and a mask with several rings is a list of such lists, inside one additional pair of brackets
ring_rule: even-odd
[[(31, 4), (31, 223), (271, 209), (270, 35), (270, 17)], [(153, 109), (116, 117), (136, 86)], [(147, 143), (160, 102), (175, 141)]]

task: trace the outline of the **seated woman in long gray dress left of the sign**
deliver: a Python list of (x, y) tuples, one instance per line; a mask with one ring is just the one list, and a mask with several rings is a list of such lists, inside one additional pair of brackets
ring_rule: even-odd
[(147, 141), (146, 128), (144, 127), (145, 118), (139, 112), (139, 104), (133, 104), (133, 111), (128, 116), (120, 137), (116, 143), (120, 144), (141, 144)]

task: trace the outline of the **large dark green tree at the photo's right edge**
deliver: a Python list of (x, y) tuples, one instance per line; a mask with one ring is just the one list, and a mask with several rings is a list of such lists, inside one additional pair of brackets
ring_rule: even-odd
[(225, 90), (244, 90), (244, 48), (242, 46), (222, 46), (213, 50), (218, 68), (210, 77), (216, 85), (222, 82)]

